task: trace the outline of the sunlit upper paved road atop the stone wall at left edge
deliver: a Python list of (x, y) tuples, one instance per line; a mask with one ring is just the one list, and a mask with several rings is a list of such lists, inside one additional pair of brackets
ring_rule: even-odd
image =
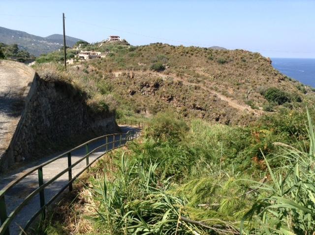
[(0, 60), (0, 158), (20, 120), (33, 76), (32, 69), (24, 64)]

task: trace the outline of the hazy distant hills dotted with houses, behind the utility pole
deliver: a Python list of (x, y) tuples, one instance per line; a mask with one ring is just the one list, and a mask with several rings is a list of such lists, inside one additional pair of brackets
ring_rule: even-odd
[[(66, 45), (72, 47), (82, 39), (66, 36)], [(32, 35), (27, 32), (0, 27), (0, 42), (18, 44), (20, 49), (28, 51), (34, 56), (56, 51), (63, 46), (63, 35), (52, 34), (47, 37)]]

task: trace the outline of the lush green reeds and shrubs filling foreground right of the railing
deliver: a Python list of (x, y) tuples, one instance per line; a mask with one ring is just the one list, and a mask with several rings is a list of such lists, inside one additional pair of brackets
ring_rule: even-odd
[(91, 235), (312, 234), (315, 138), (310, 113), (309, 129), (299, 128), (305, 116), (273, 114), (249, 128), (159, 114), (139, 141), (91, 169), (89, 186), (67, 203), (75, 209), (53, 216), (48, 228)]

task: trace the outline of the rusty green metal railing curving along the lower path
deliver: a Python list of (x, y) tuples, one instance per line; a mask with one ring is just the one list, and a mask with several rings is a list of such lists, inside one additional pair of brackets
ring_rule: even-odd
[[(27, 173), (25, 173), (23, 176), (11, 181), (9, 184), (7, 184), (2, 190), (0, 190), (0, 221), (1, 221), (1, 227), (0, 227), (0, 235), (9, 235), (9, 226), (12, 223), (13, 219), (16, 217), (16, 215), (19, 213), (19, 211), (21, 211), (21, 209), (28, 205), (28, 203), (30, 202), (30, 200), (37, 194), (39, 194), (39, 203), (40, 203), (40, 209), (32, 216), (32, 218), (27, 222), (26, 226), (24, 226), (24, 231), (27, 230), (29, 228), (29, 226), (32, 224), (32, 222), (34, 221), (34, 219), (41, 214), (41, 219), (45, 219), (46, 216), (46, 207), (49, 206), (53, 201), (55, 201), (57, 199), (57, 197), (67, 188), (69, 187), (69, 190), (72, 190), (72, 182), (77, 179), (84, 171), (86, 171), (96, 160), (98, 160), (101, 156), (103, 156), (106, 152), (111, 151), (115, 148), (118, 147), (122, 147), (124, 145), (126, 145), (126, 142), (131, 141), (137, 137), (140, 136), (140, 130), (141, 128), (144, 127), (144, 124), (141, 122), (136, 122), (136, 121), (129, 121), (126, 119), (118, 119), (117, 120), (118, 123), (120, 124), (128, 124), (131, 126), (137, 126), (138, 128), (136, 129), (132, 129), (129, 130), (126, 133), (115, 133), (115, 134), (108, 134), (108, 135), (104, 135), (104, 136), (100, 136), (97, 137), (95, 139), (92, 139), (78, 147), (72, 148), (69, 151), (66, 151), (62, 154), (60, 154), (59, 156), (44, 162), (42, 164), (40, 164), (37, 167), (34, 167), (33, 169), (31, 169), (30, 171), (28, 171)], [(116, 137), (119, 138), (116, 138)], [(112, 139), (111, 142), (108, 142), (109, 139)], [(96, 147), (95, 149), (93, 149), (92, 151), (89, 150), (89, 145), (91, 145), (92, 143), (95, 143), (96, 141), (99, 140), (105, 140), (105, 144), (102, 144), (98, 147)], [(86, 155), (84, 155), (82, 158), (80, 158), (80, 160), (76, 161), (75, 163), (71, 163), (71, 152), (81, 148), (81, 147), (85, 147), (86, 148)], [(109, 147), (111, 147), (109, 149)], [(105, 148), (104, 153), (100, 154), (99, 156), (97, 156), (91, 163), (90, 163), (90, 159), (89, 156), (96, 152), (97, 150), (101, 149), (101, 148)], [(62, 172), (60, 172), (59, 174), (57, 174), (56, 176), (52, 177), (50, 180), (48, 180), (47, 182), (44, 182), (44, 178), (43, 178), (43, 167), (49, 165), (50, 163), (63, 158), (63, 157), (67, 157), (68, 159), (68, 167), (65, 168)], [(86, 159), (86, 167), (84, 169), (82, 169), (77, 175), (72, 176), (72, 168), (75, 167), (76, 165), (78, 165), (80, 162), (82, 162), (84, 159)], [(5, 203), (5, 194), (8, 192), (9, 189), (11, 189), (12, 187), (14, 187), (14, 185), (16, 185), (17, 183), (19, 183), (22, 179), (26, 178), (27, 176), (30, 176), (32, 173), (35, 173), (37, 171), (38, 173), (38, 188), (35, 189), (34, 191), (32, 191), (32, 193), (30, 193), (25, 199), (24, 201), (17, 206), (15, 209), (13, 209), (13, 211), (7, 215), (7, 205)], [(45, 188), (50, 185), (51, 183), (53, 183), (56, 179), (58, 179), (59, 177), (63, 176), (65, 173), (68, 172), (68, 182), (61, 188), (61, 190), (55, 195), (53, 196), (48, 202), (45, 201), (45, 193), (44, 190)], [(20, 235), (22, 235), (24, 232), (21, 231)]]

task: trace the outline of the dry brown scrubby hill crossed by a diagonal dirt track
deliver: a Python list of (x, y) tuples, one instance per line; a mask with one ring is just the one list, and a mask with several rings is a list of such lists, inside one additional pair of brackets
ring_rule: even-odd
[(264, 113), (304, 107), (314, 96), (274, 69), (270, 59), (244, 50), (161, 43), (98, 50), (110, 53), (74, 65), (73, 72), (115, 97), (122, 115), (174, 110), (186, 118), (247, 124)]

